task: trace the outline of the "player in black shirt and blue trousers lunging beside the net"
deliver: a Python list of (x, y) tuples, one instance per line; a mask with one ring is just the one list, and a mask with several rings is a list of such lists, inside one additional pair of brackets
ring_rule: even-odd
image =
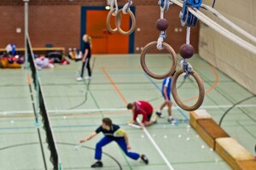
[(91, 133), (89, 136), (80, 140), (80, 143), (84, 143), (87, 140), (92, 139), (98, 133), (103, 133), (104, 137), (96, 144), (95, 159), (96, 163), (91, 165), (91, 167), (103, 167), (102, 163), (102, 147), (115, 141), (119, 144), (119, 147), (125, 152), (125, 155), (133, 160), (138, 160), (141, 158), (146, 164), (148, 164), (148, 158), (145, 155), (139, 155), (136, 152), (131, 152), (131, 145), (127, 133), (120, 128), (118, 125), (112, 123), (110, 118), (102, 119), (102, 126), (98, 127), (95, 132)]

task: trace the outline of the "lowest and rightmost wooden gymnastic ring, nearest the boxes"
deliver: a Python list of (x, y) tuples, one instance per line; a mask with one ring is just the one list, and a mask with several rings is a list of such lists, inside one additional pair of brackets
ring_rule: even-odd
[(199, 75), (195, 72), (195, 71), (191, 71), (189, 72), (189, 75), (191, 75), (192, 77), (195, 78), (195, 81), (197, 82), (198, 88), (199, 88), (199, 97), (195, 103), (195, 105), (184, 105), (183, 102), (179, 99), (178, 95), (177, 95), (177, 88), (176, 88), (176, 83), (177, 83), (177, 78), (183, 74), (183, 69), (178, 70), (174, 76), (172, 77), (172, 96), (173, 99), (176, 101), (177, 105), (180, 106), (183, 110), (185, 111), (195, 111), (197, 110), (202, 102), (204, 101), (205, 98), (205, 88), (204, 88), (204, 84), (201, 81), (201, 77), (199, 77)]

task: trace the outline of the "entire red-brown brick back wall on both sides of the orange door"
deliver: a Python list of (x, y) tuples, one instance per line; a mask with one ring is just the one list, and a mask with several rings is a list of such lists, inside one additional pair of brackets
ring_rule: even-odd
[[(118, 0), (122, 6), (127, 0)], [(66, 49), (80, 47), (81, 6), (106, 6), (107, 0), (31, 0), (29, 2), (29, 34), (33, 47), (44, 47), (50, 43)], [(160, 18), (160, 8), (156, 0), (134, 1), (136, 7), (137, 28), (135, 31), (134, 53), (140, 53), (148, 42), (156, 41), (159, 31), (155, 21)], [(178, 14), (181, 8), (172, 5), (167, 13), (169, 21), (166, 42), (177, 52), (185, 42), (186, 28), (181, 26)], [(24, 47), (24, 3), (2, 0), (0, 3), (0, 48), (9, 42)], [(16, 33), (16, 28), (21, 28)], [(191, 43), (198, 51), (199, 26), (191, 33)], [(157, 52), (157, 49), (150, 51)]]

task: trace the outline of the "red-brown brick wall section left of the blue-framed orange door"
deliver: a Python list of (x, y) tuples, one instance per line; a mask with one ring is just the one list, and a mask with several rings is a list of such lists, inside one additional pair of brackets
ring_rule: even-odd
[[(24, 10), (19, 6), (1, 6), (0, 47), (9, 42), (24, 47)], [(29, 35), (33, 47), (44, 47), (52, 43), (55, 47), (79, 47), (79, 6), (30, 6)], [(16, 33), (20, 27), (22, 32)]]

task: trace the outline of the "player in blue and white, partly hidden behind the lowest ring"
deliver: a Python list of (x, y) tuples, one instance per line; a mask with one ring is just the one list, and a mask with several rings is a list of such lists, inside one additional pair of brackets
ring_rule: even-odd
[(172, 84), (172, 77), (176, 71), (172, 73), (171, 77), (167, 77), (162, 83), (162, 95), (165, 99), (165, 102), (160, 106), (160, 109), (155, 112), (155, 114), (161, 118), (164, 118), (162, 115), (162, 110), (167, 105), (167, 112), (168, 112), (168, 122), (174, 122), (174, 118), (172, 116), (172, 101), (171, 101), (171, 84)]

